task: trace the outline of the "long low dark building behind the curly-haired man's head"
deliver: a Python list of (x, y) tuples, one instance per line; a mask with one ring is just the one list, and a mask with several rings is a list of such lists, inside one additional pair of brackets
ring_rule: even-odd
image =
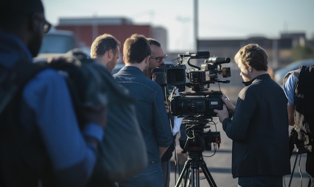
[(269, 67), (278, 69), (292, 62), (292, 48), (308, 45), (314, 48), (313, 41), (306, 41), (305, 33), (282, 33), (279, 39), (252, 37), (248, 39), (198, 40), (198, 51), (210, 51), (211, 56), (229, 57), (233, 61), (237, 51), (250, 43), (264, 48), (268, 54)]

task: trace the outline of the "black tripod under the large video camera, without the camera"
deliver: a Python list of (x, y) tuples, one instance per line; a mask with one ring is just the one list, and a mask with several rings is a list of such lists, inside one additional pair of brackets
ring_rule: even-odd
[[(187, 138), (185, 149), (188, 150), (188, 159), (184, 164), (184, 168), (179, 176), (179, 179), (176, 183), (176, 187), (179, 187), (180, 184), (184, 184), (186, 187), (187, 185), (192, 187), (199, 187), (200, 186), (200, 175), (199, 175), (199, 168), (201, 168), (207, 178), (208, 183), (212, 187), (217, 187), (212, 175), (210, 174), (206, 163), (203, 159), (202, 152), (204, 150), (210, 150), (211, 148), (210, 143), (212, 142), (210, 139), (220, 139), (219, 135), (214, 135), (213, 133), (207, 132), (204, 133), (204, 126), (193, 126), (187, 125), (190, 127), (188, 134), (193, 134), (193, 138)], [(187, 134), (187, 135), (188, 135)], [(206, 137), (206, 138), (205, 138)], [(219, 140), (220, 141), (220, 140)], [(182, 179), (184, 178), (184, 182)], [(182, 185), (181, 185), (182, 186)]]

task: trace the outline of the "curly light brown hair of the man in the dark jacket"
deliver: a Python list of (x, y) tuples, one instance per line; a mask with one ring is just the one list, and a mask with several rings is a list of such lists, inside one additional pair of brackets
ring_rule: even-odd
[(238, 51), (234, 56), (234, 61), (238, 64), (241, 60), (245, 66), (250, 65), (257, 71), (267, 71), (267, 58), (267, 53), (262, 47), (257, 44), (248, 44)]

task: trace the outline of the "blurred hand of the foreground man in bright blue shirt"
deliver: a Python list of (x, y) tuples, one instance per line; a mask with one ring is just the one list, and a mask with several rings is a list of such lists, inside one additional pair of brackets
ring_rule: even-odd
[(105, 127), (107, 124), (107, 110), (106, 106), (100, 106), (97, 108), (85, 108), (85, 115), (87, 122), (97, 123), (101, 127)]

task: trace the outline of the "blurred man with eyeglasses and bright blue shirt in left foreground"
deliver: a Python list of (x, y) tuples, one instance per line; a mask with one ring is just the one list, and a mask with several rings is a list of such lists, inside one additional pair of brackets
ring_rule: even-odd
[[(34, 66), (49, 29), (40, 0), (0, 2), (1, 96), (14, 88), (3, 84), (4, 75)], [(0, 186), (84, 186), (103, 137), (105, 108), (86, 112), (81, 130), (65, 77), (53, 69), (14, 93), (0, 110)], [(4, 101), (0, 97), (0, 105)]]

